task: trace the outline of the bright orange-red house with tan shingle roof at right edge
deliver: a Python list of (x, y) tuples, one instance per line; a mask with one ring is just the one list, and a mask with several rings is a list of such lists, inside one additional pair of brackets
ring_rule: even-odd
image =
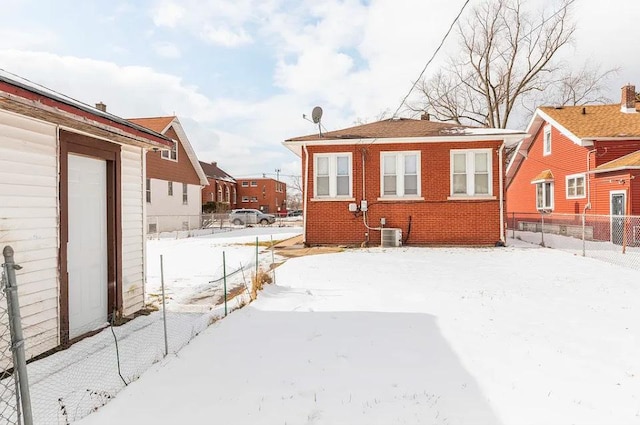
[(538, 108), (507, 168), (509, 213), (640, 214), (639, 106), (627, 85), (618, 104)]

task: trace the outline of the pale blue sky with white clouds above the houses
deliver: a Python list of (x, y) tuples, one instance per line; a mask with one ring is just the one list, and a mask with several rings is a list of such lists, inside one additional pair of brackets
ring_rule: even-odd
[[(393, 112), (464, 1), (7, 3), (0, 68), (125, 118), (176, 114), (201, 160), (242, 177), (300, 174), (282, 141), (315, 131), (302, 114), (316, 105), (329, 130)], [(639, 15), (636, 0), (575, 8), (565, 57), (618, 67), (615, 102), (622, 85), (640, 86)]]

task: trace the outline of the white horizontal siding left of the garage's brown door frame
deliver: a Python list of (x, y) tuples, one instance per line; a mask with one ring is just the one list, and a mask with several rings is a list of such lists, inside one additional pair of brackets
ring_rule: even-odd
[(57, 151), (55, 125), (0, 111), (0, 249), (11, 245), (22, 266), (27, 358), (59, 344)]

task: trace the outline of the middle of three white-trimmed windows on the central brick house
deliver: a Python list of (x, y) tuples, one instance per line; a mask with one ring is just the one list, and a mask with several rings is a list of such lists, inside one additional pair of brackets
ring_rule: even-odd
[(420, 152), (380, 153), (380, 196), (420, 195)]

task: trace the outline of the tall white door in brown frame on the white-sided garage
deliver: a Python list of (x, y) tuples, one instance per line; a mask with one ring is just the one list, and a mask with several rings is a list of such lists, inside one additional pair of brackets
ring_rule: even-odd
[(69, 155), (69, 338), (107, 322), (107, 164)]

